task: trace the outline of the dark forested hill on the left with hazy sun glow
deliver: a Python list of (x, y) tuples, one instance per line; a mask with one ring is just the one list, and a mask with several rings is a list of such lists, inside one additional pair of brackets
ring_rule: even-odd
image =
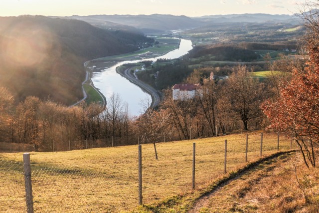
[(71, 104), (83, 96), (84, 61), (134, 51), (145, 42), (153, 40), (80, 20), (0, 17), (0, 85), (16, 102), (33, 95)]

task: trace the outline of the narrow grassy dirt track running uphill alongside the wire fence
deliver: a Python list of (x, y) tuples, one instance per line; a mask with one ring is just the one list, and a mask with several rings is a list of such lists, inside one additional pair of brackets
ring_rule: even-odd
[[(241, 172), (236, 177), (215, 188), (209, 194), (198, 199), (188, 213), (227, 212), (228, 210), (223, 209), (225, 206), (239, 205), (239, 198), (244, 197), (252, 190), (252, 185), (255, 186), (262, 179), (271, 176), (271, 171), (279, 167), (281, 163), (287, 161), (287, 158), (288, 153), (265, 159), (265, 161)], [(249, 202), (256, 203), (254, 199), (248, 200)]]

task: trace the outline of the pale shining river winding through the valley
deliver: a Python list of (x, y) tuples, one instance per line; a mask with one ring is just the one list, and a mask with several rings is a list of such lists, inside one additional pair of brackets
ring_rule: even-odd
[[(92, 71), (92, 81), (96, 88), (100, 89), (100, 92), (106, 97), (109, 98), (113, 94), (119, 95), (122, 102), (129, 106), (129, 114), (131, 116), (139, 116), (143, 113), (144, 109), (141, 106), (141, 101), (150, 99), (152, 94), (156, 94), (157, 91), (147, 92), (145, 87), (141, 86), (140, 82), (132, 82), (136, 79), (134, 76), (130, 78), (128, 75), (121, 75), (117, 72), (116, 68), (123, 64), (131, 64), (131, 63), (141, 63), (144, 60), (149, 61), (157, 61), (160, 58), (166, 59), (174, 59), (179, 58), (185, 55), (189, 50), (191, 50), (192, 43), (190, 40), (180, 39), (177, 40), (180, 44), (177, 49), (169, 51), (168, 53), (163, 52), (161, 56), (153, 57), (153, 58), (142, 58), (139, 60), (126, 60), (126, 61), (117, 61), (110, 59), (108, 61), (103, 60), (94, 60), (88, 64), (88, 67), (92, 67), (90, 71)], [(175, 41), (176, 42), (176, 41)], [(117, 56), (121, 57), (121, 56)], [(125, 60), (125, 58), (122, 58)], [(132, 80), (133, 79), (133, 80)], [(154, 97), (152, 98), (154, 99)], [(156, 98), (155, 98), (156, 99)], [(157, 98), (160, 99), (160, 98)], [(157, 101), (153, 101), (152, 106), (156, 106)]]

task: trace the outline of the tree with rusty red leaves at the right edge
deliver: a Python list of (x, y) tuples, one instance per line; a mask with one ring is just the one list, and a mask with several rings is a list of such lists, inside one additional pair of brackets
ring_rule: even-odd
[(277, 131), (295, 137), (307, 167), (315, 167), (319, 155), (319, 13), (303, 14), (308, 59), (304, 68), (295, 68), (291, 81), (282, 85), (275, 100), (261, 106)]

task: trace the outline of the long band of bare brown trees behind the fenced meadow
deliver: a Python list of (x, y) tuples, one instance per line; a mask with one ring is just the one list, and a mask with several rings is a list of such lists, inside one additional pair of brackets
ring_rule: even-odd
[[(198, 71), (198, 70), (197, 70)], [(196, 73), (196, 72), (194, 72)], [(188, 81), (197, 81), (195, 74)], [(14, 106), (9, 91), (0, 88), (0, 141), (34, 143), (38, 151), (95, 146), (155, 143), (209, 137), (238, 129), (243, 123), (255, 127), (260, 123), (259, 104), (265, 98), (265, 85), (253, 78), (247, 67), (234, 68), (227, 80), (202, 80), (202, 93), (195, 99), (173, 101), (171, 90), (159, 109), (149, 108), (132, 118), (128, 106), (113, 94), (106, 110), (98, 104), (67, 107), (51, 100), (27, 97)], [(217, 127), (217, 128), (216, 128)]]

